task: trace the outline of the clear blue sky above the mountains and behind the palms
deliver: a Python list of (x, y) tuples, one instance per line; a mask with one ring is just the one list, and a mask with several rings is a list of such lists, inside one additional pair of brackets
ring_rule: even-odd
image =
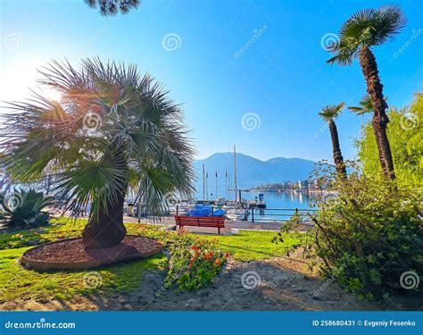
[[(356, 105), (365, 86), (358, 62), (327, 65), (330, 54), (321, 45), (350, 14), (381, 4), (143, 0), (129, 14), (104, 18), (83, 0), (2, 0), (0, 98), (27, 96), (26, 88), (36, 86), (35, 68), (51, 59), (77, 64), (98, 55), (137, 63), (170, 89), (183, 104), (199, 158), (236, 144), (260, 159), (331, 159), (319, 109)], [(389, 104), (402, 106), (422, 89), (423, 2), (396, 4), (408, 25), (374, 51)], [(361, 122), (346, 111), (337, 121), (347, 158), (355, 155)]]

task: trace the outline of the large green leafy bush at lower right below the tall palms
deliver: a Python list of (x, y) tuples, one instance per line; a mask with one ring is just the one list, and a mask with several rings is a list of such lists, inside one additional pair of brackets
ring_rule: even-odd
[[(350, 174), (339, 196), (319, 200), (310, 255), (347, 290), (380, 298), (402, 289), (402, 273), (423, 274), (422, 194), (383, 178)], [(417, 285), (414, 289), (417, 289)]]

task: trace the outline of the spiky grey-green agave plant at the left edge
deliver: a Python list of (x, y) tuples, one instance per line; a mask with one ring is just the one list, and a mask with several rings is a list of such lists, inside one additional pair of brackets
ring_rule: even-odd
[(35, 189), (16, 190), (11, 195), (0, 194), (0, 204), (3, 207), (0, 219), (6, 220), (10, 227), (31, 228), (49, 222), (49, 214), (43, 209), (51, 205), (51, 197), (44, 197), (43, 192)]

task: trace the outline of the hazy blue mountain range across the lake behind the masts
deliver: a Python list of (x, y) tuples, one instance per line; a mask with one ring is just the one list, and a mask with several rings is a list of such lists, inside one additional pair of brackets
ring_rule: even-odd
[[(197, 194), (203, 194), (203, 164), (208, 173), (208, 193), (216, 193), (218, 173), (218, 195), (225, 195), (225, 173), (229, 175), (229, 188), (234, 188), (234, 155), (217, 153), (196, 160), (194, 163)], [(262, 184), (284, 180), (306, 180), (314, 168), (314, 162), (303, 158), (276, 157), (261, 161), (249, 155), (236, 154), (236, 176), (238, 188), (252, 188)], [(210, 197), (209, 197), (210, 198)]]

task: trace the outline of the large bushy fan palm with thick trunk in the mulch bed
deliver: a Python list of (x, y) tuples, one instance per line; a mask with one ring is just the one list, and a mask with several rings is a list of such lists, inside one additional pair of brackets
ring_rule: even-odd
[(2, 163), (24, 182), (48, 169), (65, 211), (79, 213), (92, 203), (86, 247), (112, 247), (124, 238), (129, 188), (156, 214), (171, 194), (192, 193), (194, 150), (181, 111), (148, 74), (98, 58), (84, 60), (79, 69), (53, 62), (40, 73), (40, 84), (62, 97), (36, 94), (10, 104)]

